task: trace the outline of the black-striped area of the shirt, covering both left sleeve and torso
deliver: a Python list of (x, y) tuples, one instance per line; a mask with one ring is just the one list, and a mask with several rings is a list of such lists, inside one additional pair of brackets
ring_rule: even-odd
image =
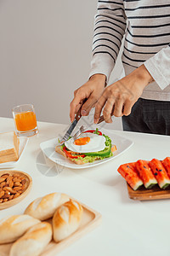
[(99, 0), (93, 55), (110, 55), (115, 62), (124, 33), (122, 61), (139, 67), (169, 45), (170, 1)]

